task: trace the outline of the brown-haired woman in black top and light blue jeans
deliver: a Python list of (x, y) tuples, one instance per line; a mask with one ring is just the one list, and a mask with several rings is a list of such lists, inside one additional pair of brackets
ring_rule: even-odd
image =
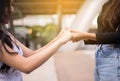
[(98, 17), (97, 33), (73, 33), (73, 42), (99, 44), (96, 51), (95, 81), (120, 81), (120, 0), (108, 0)]

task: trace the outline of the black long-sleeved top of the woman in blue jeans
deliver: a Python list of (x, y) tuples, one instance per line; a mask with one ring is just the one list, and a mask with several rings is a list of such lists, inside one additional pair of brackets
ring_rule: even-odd
[(96, 41), (87, 40), (85, 44), (120, 44), (120, 26), (116, 26), (116, 29), (104, 27), (100, 21), (99, 16)]

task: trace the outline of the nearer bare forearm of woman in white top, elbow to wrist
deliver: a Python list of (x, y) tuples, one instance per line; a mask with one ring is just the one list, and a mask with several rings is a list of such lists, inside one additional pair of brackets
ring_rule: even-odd
[(42, 50), (26, 59), (26, 68), (28, 73), (41, 66), (46, 60), (48, 60), (61, 46), (59, 42), (54, 42), (45, 50)]

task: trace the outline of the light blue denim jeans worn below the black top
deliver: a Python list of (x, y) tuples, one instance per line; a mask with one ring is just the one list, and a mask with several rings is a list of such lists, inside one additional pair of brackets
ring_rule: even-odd
[(95, 81), (120, 81), (120, 48), (100, 45), (95, 57)]

